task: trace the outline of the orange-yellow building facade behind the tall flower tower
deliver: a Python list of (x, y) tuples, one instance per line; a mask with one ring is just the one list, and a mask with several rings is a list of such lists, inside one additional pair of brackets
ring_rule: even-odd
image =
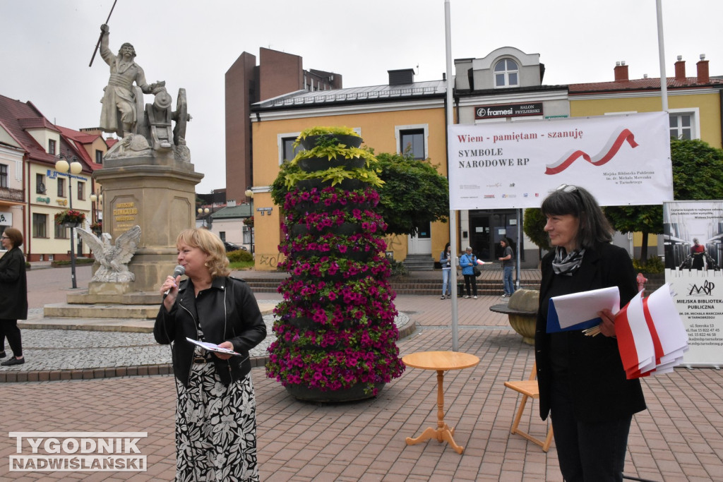
[[(390, 86), (391, 87), (391, 86)], [(435, 89), (437, 86), (435, 86)], [(312, 95), (316, 92), (307, 92)], [(344, 90), (333, 91), (334, 98), (345, 95)], [(277, 101), (278, 102), (278, 101)], [(284, 159), (291, 160), (290, 143), (303, 129), (313, 126), (346, 126), (355, 129), (364, 139), (364, 145), (376, 153), (402, 152), (407, 133), (423, 140), (424, 158), (429, 158), (437, 170), (446, 176), (446, 141), (444, 91), (426, 98), (396, 98), (389, 102), (355, 103), (352, 106), (329, 106), (321, 101), (315, 109), (274, 109), (274, 100), (257, 104), (257, 116), (252, 116), (253, 139), (253, 214), (254, 252), (257, 270), (275, 270), (283, 261), (278, 245), (283, 240), (282, 213), (273, 204), (270, 185), (278, 176)], [(362, 146), (363, 147), (363, 146)], [(449, 241), (449, 224), (432, 223), (429, 238), (420, 244), (407, 236), (388, 236), (388, 253), (403, 261), (416, 251), (435, 257)], [(431, 262), (431, 260), (430, 260)]]

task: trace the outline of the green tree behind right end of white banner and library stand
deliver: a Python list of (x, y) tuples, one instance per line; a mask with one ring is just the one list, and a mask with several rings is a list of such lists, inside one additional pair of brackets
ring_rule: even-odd
[[(723, 150), (701, 140), (670, 139), (673, 199), (723, 199)], [(648, 235), (662, 234), (662, 205), (608, 206), (605, 215), (621, 233), (642, 233), (641, 261), (648, 259)]]

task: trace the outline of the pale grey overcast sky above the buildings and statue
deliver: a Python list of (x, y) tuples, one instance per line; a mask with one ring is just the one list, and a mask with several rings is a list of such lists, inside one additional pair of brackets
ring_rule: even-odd
[[(630, 78), (659, 77), (655, 0), (450, 0), (453, 59), (503, 46), (539, 53), (545, 85), (613, 79), (616, 61)], [(0, 94), (30, 100), (71, 129), (97, 126), (108, 66), (95, 56), (112, 0), (0, 0)], [(723, 75), (722, 0), (662, 0), (665, 68), (677, 55), (688, 76), (701, 53)], [(148, 82), (165, 80), (175, 99), (187, 90), (192, 163), (204, 193), (226, 187), (224, 74), (243, 51), (294, 53), (304, 69), (343, 75), (344, 87), (381, 85), (387, 70), (415, 79), (445, 72), (443, 0), (117, 0), (111, 50), (133, 43)], [(150, 97), (147, 96), (147, 99)]]

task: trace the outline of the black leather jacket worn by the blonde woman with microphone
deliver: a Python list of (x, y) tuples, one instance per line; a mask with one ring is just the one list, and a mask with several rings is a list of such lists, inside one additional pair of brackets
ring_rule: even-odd
[(194, 345), (186, 337), (198, 339), (197, 323), (204, 341), (217, 345), (230, 341), (234, 350), (243, 354), (228, 360), (211, 356), (223, 384), (241, 379), (251, 371), (249, 350), (266, 337), (266, 325), (246, 282), (215, 277), (210, 288), (196, 297), (191, 280), (183, 280), (171, 311), (161, 304), (153, 335), (158, 343), (172, 343), (174, 374), (186, 386), (194, 357)]

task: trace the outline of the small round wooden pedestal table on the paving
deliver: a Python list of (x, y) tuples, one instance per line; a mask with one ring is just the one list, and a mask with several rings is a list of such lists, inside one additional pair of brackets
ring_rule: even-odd
[(403, 356), (402, 361), (406, 366), (412, 368), (437, 371), (437, 428), (429, 427), (425, 429), (422, 435), (416, 437), (416, 439), (407, 437), (407, 445), (437, 439), (437, 442), (448, 442), (458, 454), (461, 454), (464, 447), (454, 441), (454, 427), (450, 428), (445, 423), (445, 392), (443, 388), (445, 371), (476, 366), (479, 363), (479, 358), (469, 353), (459, 353), (457, 351), (421, 351)]

